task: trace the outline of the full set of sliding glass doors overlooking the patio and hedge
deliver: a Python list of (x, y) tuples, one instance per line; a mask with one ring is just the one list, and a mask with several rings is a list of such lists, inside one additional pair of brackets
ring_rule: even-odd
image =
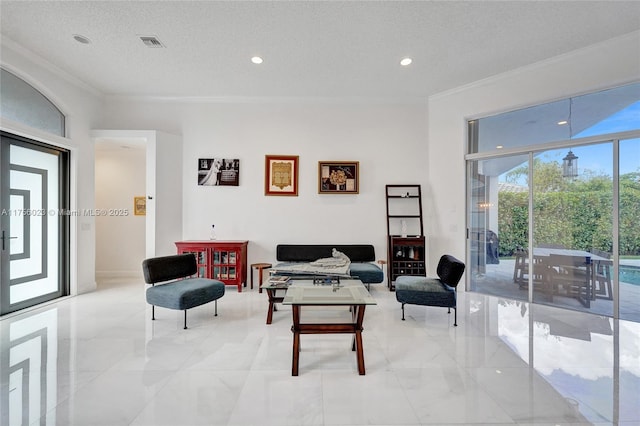
[(640, 139), (468, 167), (469, 290), (640, 320)]

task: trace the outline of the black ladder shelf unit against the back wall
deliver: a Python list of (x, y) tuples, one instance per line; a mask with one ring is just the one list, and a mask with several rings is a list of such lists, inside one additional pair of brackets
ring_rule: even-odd
[[(386, 185), (387, 285), (401, 275), (426, 276), (426, 246), (420, 185)], [(404, 224), (404, 226), (403, 226)]]

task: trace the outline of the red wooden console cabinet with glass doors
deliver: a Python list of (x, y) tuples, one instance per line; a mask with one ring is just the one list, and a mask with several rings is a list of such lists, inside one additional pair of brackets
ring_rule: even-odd
[(226, 285), (247, 285), (247, 246), (249, 241), (191, 240), (176, 241), (178, 254), (193, 253), (198, 261), (198, 276), (220, 280)]

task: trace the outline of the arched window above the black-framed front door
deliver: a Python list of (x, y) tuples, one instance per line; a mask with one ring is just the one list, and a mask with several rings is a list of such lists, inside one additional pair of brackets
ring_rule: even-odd
[(64, 137), (62, 112), (21, 78), (4, 69), (0, 71), (0, 116)]

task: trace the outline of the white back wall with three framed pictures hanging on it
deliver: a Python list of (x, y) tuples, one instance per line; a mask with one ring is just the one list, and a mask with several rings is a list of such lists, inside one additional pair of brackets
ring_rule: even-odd
[[(275, 261), (278, 243), (370, 243), (385, 258), (384, 185), (426, 183), (421, 104), (111, 99), (103, 117), (108, 128), (181, 134), (182, 238), (207, 239), (215, 224), (218, 239), (250, 241), (250, 263)], [(266, 154), (300, 156), (299, 196), (264, 195)], [(240, 186), (198, 186), (197, 160), (211, 157), (239, 158)], [(360, 193), (319, 195), (320, 160), (359, 161)]]

